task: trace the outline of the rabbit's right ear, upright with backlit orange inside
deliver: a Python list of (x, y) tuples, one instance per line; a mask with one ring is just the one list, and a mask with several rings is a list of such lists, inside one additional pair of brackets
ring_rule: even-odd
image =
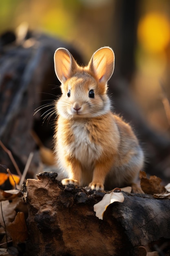
[(99, 82), (107, 83), (113, 74), (115, 54), (110, 47), (98, 49), (92, 56), (88, 68), (95, 74)]

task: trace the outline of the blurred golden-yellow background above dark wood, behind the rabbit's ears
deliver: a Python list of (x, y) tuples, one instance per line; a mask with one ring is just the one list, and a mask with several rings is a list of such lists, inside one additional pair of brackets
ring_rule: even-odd
[[(130, 82), (149, 124), (169, 129), (162, 88), (170, 95), (169, 0), (2, 0), (0, 34), (21, 24), (75, 47), (85, 63), (99, 47), (115, 52), (115, 76)], [(169, 120), (170, 122), (170, 120)]]

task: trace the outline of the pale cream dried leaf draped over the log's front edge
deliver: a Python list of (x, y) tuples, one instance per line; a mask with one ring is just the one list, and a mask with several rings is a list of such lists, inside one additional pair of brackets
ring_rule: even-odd
[(104, 212), (109, 204), (113, 202), (124, 202), (124, 195), (121, 192), (111, 192), (104, 195), (102, 200), (94, 205), (94, 211), (96, 212), (96, 217), (103, 220)]

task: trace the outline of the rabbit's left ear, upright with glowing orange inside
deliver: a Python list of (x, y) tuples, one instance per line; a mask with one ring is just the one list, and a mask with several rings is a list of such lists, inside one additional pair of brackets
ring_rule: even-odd
[(64, 83), (77, 70), (77, 63), (65, 48), (58, 48), (54, 54), (55, 74), (61, 83)]

